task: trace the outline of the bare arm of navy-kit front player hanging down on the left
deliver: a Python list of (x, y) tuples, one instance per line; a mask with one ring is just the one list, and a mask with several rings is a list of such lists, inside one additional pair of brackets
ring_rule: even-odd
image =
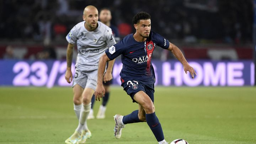
[(106, 68), (106, 63), (108, 61), (110, 61), (110, 59), (107, 57), (106, 53), (104, 53), (100, 58), (99, 65), (98, 65), (97, 87), (94, 93), (96, 101), (97, 100), (100, 101), (100, 98), (103, 97), (103, 95), (105, 95), (105, 89), (103, 87), (102, 80), (103, 80), (103, 74)]

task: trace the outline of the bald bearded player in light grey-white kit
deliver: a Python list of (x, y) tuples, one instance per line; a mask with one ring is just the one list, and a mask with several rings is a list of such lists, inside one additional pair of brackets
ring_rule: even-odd
[[(78, 127), (74, 134), (65, 140), (66, 144), (84, 144), (86, 139), (91, 137), (86, 119), (91, 110), (91, 98), (97, 86), (98, 62), (105, 50), (116, 43), (111, 28), (98, 22), (98, 10), (95, 6), (85, 7), (83, 20), (66, 36), (68, 47), (65, 79), (68, 83), (73, 79), (71, 63), (75, 43), (78, 48), (73, 80), (73, 101), (74, 111), (79, 119)], [(113, 63), (114, 60), (108, 65), (103, 81), (112, 79)]]

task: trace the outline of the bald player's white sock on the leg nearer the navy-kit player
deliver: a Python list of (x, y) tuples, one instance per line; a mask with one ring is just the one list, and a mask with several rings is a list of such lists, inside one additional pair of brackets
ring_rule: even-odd
[(78, 127), (76, 128), (76, 131), (79, 133), (82, 132), (82, 130), (89, 130), (87, 127), (86, 119), (90, 113), (91, 110), (91, 102), (88, 105), (83, 105), (81, 112), (80, 112), (80, 118), (79, 118), (79, 124)]

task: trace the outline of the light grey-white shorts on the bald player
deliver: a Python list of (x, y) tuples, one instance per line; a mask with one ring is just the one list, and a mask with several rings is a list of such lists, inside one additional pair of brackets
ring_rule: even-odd
[(89, 87), (95, 91), (97, 86), (97, 75), (97, 69), (80, 71), (78, 68), (75, 68), (75, 75), (72, 86), (74, 87), (76, 84), (78, 84), (83, 89), (85, 89), (85, 87)]

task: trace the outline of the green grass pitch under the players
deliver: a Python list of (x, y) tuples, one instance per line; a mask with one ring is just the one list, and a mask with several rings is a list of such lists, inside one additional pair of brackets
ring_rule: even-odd
[[(86, 143), (157, 144), (146, 123), (127, 124), (114, 138), (114, 114), (137, 108), (122, 87), (112, 87), (106, 119), (87, 121)], [(167, 142), (256, 144), (255, 87), (156, 87), (155, 110)], [(77, 125), (71, 87), (0, 88), (1, 144), (64, 144)]]

